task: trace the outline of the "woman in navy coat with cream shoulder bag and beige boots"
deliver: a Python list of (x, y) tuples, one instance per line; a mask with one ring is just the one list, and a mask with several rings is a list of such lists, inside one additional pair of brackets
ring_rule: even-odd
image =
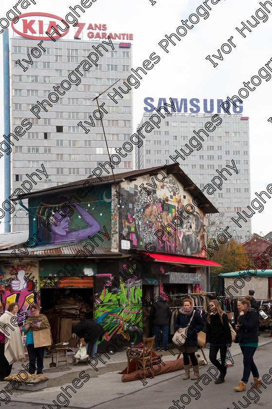
[[(194, 309), (192, 300), (190, 298), (185, 298), (183, 300), (183, 306), (178, 312), (178, 316), (175, 322), (175, 330), (177, 331), (179, 328), (186, 328), (193, 313)], [(195, 311), (195, 314), (187, 331), (186, 341), (180, 347), (180, 350), (183, 354), (183, 363), (185, 370), (185, 375), (182, 379), (190, 379), (189, 357), (191, 358), (194, 370), (194, 375), (191, 379), (199, 379), (199, 365), (195, 353), (198, 350), (198, 332), (202, 330), (203, 326), (204, 322), (202, 321), (200, 314)]]

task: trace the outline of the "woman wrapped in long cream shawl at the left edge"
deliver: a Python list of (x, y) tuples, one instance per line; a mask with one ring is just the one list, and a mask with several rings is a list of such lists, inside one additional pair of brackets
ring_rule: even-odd
[(25, 353), (17, 316), (19, 304), (12, 302), (0, 316), (0, 381), (10, 375), (12, 364), (25, 361)]

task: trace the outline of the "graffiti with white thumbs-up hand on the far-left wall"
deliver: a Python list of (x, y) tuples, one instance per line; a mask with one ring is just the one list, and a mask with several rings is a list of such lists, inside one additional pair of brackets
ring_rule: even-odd
[(21, 326), (28, 315), (30, 304), (38, 302), (38, 267), (36, 264), (14, 264), (0, 266), (0, 312), (3, 313), (12, 302), (18, 302), (18, 325)]

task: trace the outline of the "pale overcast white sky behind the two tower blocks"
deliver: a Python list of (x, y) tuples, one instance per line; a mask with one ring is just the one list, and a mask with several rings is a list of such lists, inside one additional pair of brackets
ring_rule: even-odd
[[(200, 0), (96, 0), (89, 9), (79, 18), (79, 22), (107, 24), (107, 33), (133, 33), (133, 62), (134, 69), (142, 67), (143, 61), (151, 53), (160, 56), (161, 60), (154, 68), (147, 72), (140, 80), (139, 88), (133, 91), (133, 124), (134, 130), (140, 123), (144, 113), (144, 99), (151, 96), (156, 100), (159, 97), (172, 98), (203, 98), (226, 99), (227, 96), (236, 95), (243, 86), (243, 82), (251, 81), (254, 75), (265, 66), (272, 58), (272, 13), (267, 16), (258, 9), (259, 1), (255, 0), (208, 0), (207, 5), (211, 10), (204, 19), (199, 17), (199, 22), (187, 29), (187, 34), (176, 40), (177, 44), (169, 44), (166, 53), (159, 42), (165, 35), (176, 33), (181, 19), (186, 20), (203, 4)], [(212, 4), (216, 3), (217, 4)], [(263, 1), (264, 2), (264, 1)], [(1, 2), (0, 17), (10, 10), (15, 1)], [(69, 5), (80, 4), (80, 0), (64, 1), (47, 0), (46, 6), (41, 0), (36, 0), (36, 5), (30, 5), (24, 12), (47, 12), (62, 18), (70, 11)], [(268, 6), (269, 8), (269, 6)], [(272, 10), (272, 6), (270, 6)], [(256, 14), (257, 13), (257, 14)], [(199, 9), (199, 14), (203, 10)], [(257, 24), (253, 17), (259, 23)], [(194, 19), (194, 17), (193, 17)], [(267, 20), (266, 20), (267, 19)], [(241, 22), (249, 20), (252, 25), (251, 32), (245, 30), (243, 37), (236, 27), (242, 28)], [(266, 21), (265, 21), (266, 20)], [(86, 26), (87, 27), (87, 24)], [(250, 27), (250, 26), (249, 26)], [(77, 29), (77, 28), (76, 28)], [(70, 29), (70, 38), (73, 38), (75, 28)], [(13, 35), (10, 29), (10, 37)], [(85, 30), (86, 35), (86, 30)], [(218, 66), (206, 60), (206, 56), (218, 54), (222, 44), (233, 37), (229, 54), (223, 54), (223, 60)], [(68, 38), (68, 37), (65, 37)], [(2, 35), (0, 34), (0, 50), (2, 50)], [(264, 72), (263, 76), (265, 76)], [(270, 72), (272, 74), (272, 72)], [(0, 75), (2, 74), (2, 51), (0, 51)], [(243, 100), (243, 116), (250, 117), (250, 163), (251, 163), (251, 200), (255, 192), (260, 193), (272, 183), (270, 175), (271, 161), (271, 133), (272, 122), (272, 79), (268, 76), (261, 79), (260, 85), (254, 91), (249, 91), (249, 96)], [(256, 80), (255, 80), (256, 81)], [(0, 140), (3, 130), (3, 105), (2, 81), (0, 82)], [(270, 105), (269, 105), (270, 104)], [(0, 158), (0, 204), (3, 196), (3, 157)], [(248, 204), (250, 205), (250, 203)], [(252, 233), (266, 234), (272, 230), (269, 223), (272, 212), (272, 198), (267, 199), (261, 213), (256, 211), (252, 217)], [(3, 232), (3, 223), (0, 224)]]

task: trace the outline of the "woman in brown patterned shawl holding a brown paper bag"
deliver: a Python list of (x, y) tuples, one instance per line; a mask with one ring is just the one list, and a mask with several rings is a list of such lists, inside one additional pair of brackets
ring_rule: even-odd
[[(29, 356), (29, 373), (34, 374), (36, 370), (37, 361), (37, 375), (42, 373), (43, 369), (43, 354), (45, 347), (34, 347), (33, 332), (39, 330), (50, 330), (50, 324), (47, 317), (44, 314), (40, 314), (40, 306), (38, 304), (32, 304), (30, 307), (30, 312), (32, 316), (29, 316), (25, 321), (25, 326), (23, 327), (23, 332), (26, 333), (25, 345), (27, 347), (27, 352)], [(51, 331), (50, 331), (51, 335)], [(52, 335), (51, 335), (51, 342)]]

